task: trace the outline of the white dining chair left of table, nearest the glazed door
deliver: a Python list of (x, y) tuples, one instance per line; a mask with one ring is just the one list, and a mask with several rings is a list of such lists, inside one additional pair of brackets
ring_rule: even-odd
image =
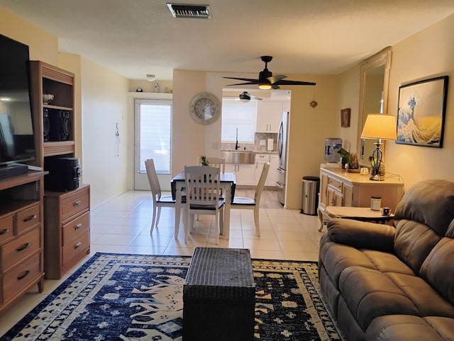
[[(175, 200), (172, 199), (172, 195), (162, 195), (161, 186), (157, 179), (157, 173), (155, 168), (155, 161), (153, 158), (145, 160), (145, 168), (147, 170), (148, 182), (150, 183), (151, 194), (153, 197), (153, 219), (151, 221), (150, 234), (153, 233), (153, 229), (159, 224), (161, 216), (161, 207), (175, 207)], [(177, 238), (178, 232), (175, 231), (175, 238)]]

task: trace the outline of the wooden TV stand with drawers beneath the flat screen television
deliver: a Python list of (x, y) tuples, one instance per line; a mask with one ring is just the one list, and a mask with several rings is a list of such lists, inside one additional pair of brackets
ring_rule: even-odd
[(0, 311), (35, 284), (43, 292), (44, 175), (0, 181)]

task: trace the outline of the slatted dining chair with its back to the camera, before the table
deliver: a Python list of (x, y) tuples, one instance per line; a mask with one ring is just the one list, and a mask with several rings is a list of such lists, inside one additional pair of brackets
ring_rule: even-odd
[(211, 166), (184, 166), (186, 180), (186, 236), (194, 227), (195, 214), (211, 214), (216, 216), (216, 244), (219, 243), (219, 233), (223, 228), (223, 206), (219, 179), (219, 168)]

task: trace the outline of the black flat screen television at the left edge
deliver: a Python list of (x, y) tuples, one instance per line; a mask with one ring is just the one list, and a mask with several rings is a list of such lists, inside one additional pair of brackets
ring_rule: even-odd
[(36, 158), (28, 46), (0, 35), (0, 167)]

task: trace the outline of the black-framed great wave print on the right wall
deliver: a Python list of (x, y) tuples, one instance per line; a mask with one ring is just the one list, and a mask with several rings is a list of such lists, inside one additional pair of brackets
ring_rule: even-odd
[(399, 86), (398, 144), (443, 146), (448, 76)]

